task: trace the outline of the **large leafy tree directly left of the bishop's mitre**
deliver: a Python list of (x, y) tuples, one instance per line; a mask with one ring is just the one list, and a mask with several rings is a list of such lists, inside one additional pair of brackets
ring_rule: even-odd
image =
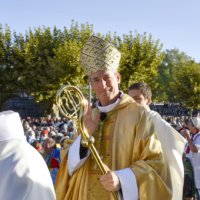
[(92, 34), (92, 26), (72, 23), (69, 30), (51, 32), (50, 28), (39, 27), (29, 30), (22, 45), (24, 55), (21, 84), (37, 101), (51, 108), (57, 90), (66, 84), (86, 84), (86, 74), (80, 66), (82, 46)]

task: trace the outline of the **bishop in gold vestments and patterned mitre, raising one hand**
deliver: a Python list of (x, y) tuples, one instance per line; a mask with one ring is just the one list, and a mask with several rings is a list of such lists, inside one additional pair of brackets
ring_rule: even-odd
[(119, 90), (120, 52), (92, 36), (81, 52), (81, 64), (99, 101), (84, 117), (87, 132), (108, 173), (101, 175), (95, 160), (81, 144), (81, 135), (69, 148), (58, 171), (58, 200), (172, 199), (169, 166), (165, 162), (150, 116), (131, 97)]

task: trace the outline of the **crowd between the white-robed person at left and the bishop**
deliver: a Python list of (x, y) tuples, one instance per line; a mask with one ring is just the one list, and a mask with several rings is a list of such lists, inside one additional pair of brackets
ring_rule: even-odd
[(68, 118), (46, 117), (21, 119), (24, 134), (29, 144), (43, 156), (51, 173), (53, 184), (61, 163), (65, 139), (73, 140), (75, 127)]

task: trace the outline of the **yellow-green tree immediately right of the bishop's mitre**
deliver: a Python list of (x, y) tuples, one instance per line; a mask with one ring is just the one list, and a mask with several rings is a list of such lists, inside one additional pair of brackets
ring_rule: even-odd
[(123, 40), (118, 38), (119, 50), (122, 52), (120, 74), (122, 76), (121, 88), (127, 92), (128, 87), (134, 82), (146, 82), (153, 93), (156, 92), (158, 83), (158, 66), (163, 60), (162, 45), (159, 40), (152, 40), (144, 35), (136, 34), (133, 37), (124, 35)]

